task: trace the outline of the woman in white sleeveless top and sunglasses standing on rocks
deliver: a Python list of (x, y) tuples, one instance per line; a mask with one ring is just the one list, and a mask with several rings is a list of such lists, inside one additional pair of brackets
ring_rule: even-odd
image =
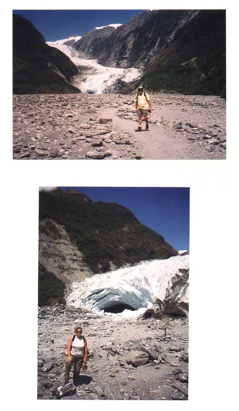
[(85, 367), (87, 361), (87, 342), (82, 334), (82, 328), (76, 327), (76, 333), (69, 338), (67, 344), (67, 362), (65, 367), (65, 384), (69, 383), (71, 365), (74, 364), (73, 383), (79, 378), (80, 368)]

